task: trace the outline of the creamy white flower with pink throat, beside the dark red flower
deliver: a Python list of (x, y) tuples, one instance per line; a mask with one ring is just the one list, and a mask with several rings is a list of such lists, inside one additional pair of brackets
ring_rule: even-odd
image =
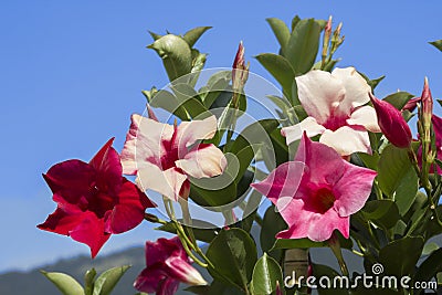
[(182, 122), (172, 126), (134, 114), (122, 151), (123, 172), (137, 175), (143, 190), (155, 190), (171, 200), (187, 199), (188, 177), (214, 177), (223, 172), (227, 160), (212, 144), (196, 144), (217, 131), (217, 118)]

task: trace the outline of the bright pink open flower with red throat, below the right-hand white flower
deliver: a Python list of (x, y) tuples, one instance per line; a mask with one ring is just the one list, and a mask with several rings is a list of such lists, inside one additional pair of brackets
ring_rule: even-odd
[(276, 238), (326, 241), (334, 230), (349, 238), (350, 215), (364, 207), (376, 175), (304, 133), (295, 161), (278, 166), (252, 187), (267, 196), (288, 224)]

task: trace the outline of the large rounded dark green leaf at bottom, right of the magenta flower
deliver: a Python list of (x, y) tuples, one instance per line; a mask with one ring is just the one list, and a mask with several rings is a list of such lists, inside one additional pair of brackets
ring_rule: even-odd
[(217, 265), (209, 267), (214, 278), (248, 289), (257, 260), (256, 245), (249, 233), (235, 228), (221, 231), (209, 245), (207, 256)]

